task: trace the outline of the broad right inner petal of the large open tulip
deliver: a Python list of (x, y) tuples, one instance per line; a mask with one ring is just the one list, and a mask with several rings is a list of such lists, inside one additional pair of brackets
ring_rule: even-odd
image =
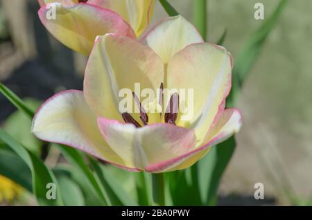
[(208, 43), (191, 44), (168, 63), (168, 88), (193, 90), (193, 97), (185, 98), (189, 112), (178, 114), (177, 125), (195, 129), (198, 141), (225, 107), (231, 71), (232, 57), (225, 48)]

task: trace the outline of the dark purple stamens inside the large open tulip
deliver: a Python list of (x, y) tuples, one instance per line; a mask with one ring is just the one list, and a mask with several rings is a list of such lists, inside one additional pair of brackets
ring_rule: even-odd
[[(140, 118), (143, 126), (148, 125), (148, 114), (146, 113), (146, 110), (142, 106), (142, 104), (141, 104), (139, 98), (137, 97), (137, 95), (135, 94), (135, 92), (132, 92), (132, 96), (135, 100), (135, 103), (139, 107), (139, 111), (140, 111), (139, 118)], [(159, 106), (161, 108), (164, 106), (164, 84), (163, 83), (160, 84), (160, 88), (159, 88)], [(178, 109), (179, 109), (179, 95), (177, 93), (173, 93), (171, 95), (169, 102), (168, 102), (168, 107), (166, 109), (166, 113), (164, 114), (164, 122), (171, 124), (171, 125), (175, 125), (175, 120), (177, 120)], [(123, 112), (123, 113), (121, 113), (121, 116), (123, 117), (123, 120), (126, 123), (130, 123), (132, 125), (135, 125), (135, 127), (141, 127), (139, 122), (137, 122), (137, 120), (135, 120), (135, 118), (133, 118), (130, 115), (130, 113)], [(162, 118), (162, 111), (160, 111), (160, 118)]]

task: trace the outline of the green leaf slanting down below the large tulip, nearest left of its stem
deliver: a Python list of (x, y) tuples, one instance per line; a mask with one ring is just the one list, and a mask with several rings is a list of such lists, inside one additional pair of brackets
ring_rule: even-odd
[(101, 181), (103, 187), (107, 192), (107, 196), (110, 198), (112, 205), (125, 205), (133, 206), (137, 203), (131, 198), (131, 196), (123, 190), (123, 187), (114, 178), (107, 167), (99, 165), (96, 161), (90, 158), (90, 163), (94, 167), (98, 179)]

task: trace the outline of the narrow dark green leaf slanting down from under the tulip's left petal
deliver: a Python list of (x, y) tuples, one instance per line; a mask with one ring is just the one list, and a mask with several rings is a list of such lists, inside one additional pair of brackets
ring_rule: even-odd
[(72, 147), (64, 145), (55, 146), (60, 149), (67, 161), (69, 161), (73, 167), (76, 167), (76, 169), (86, 178), (92, 192), (102, 201), (102, 205), (110, 205), (107, 193), (104, 191), (104, 188), (99, 185), (98, 181), (94, 177), (94, 174), (90, 171), (89, 167), (85, 163), (83, 155)]

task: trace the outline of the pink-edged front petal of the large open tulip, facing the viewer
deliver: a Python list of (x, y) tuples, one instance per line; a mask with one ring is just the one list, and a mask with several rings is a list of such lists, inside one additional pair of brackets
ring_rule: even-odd
[(190, 152), (196, 143), (191, 129), (169, 124), (135, 128), (132, 124), (98, 118), (98, 127), (125, 165), (139, 169), (182, 156)]

